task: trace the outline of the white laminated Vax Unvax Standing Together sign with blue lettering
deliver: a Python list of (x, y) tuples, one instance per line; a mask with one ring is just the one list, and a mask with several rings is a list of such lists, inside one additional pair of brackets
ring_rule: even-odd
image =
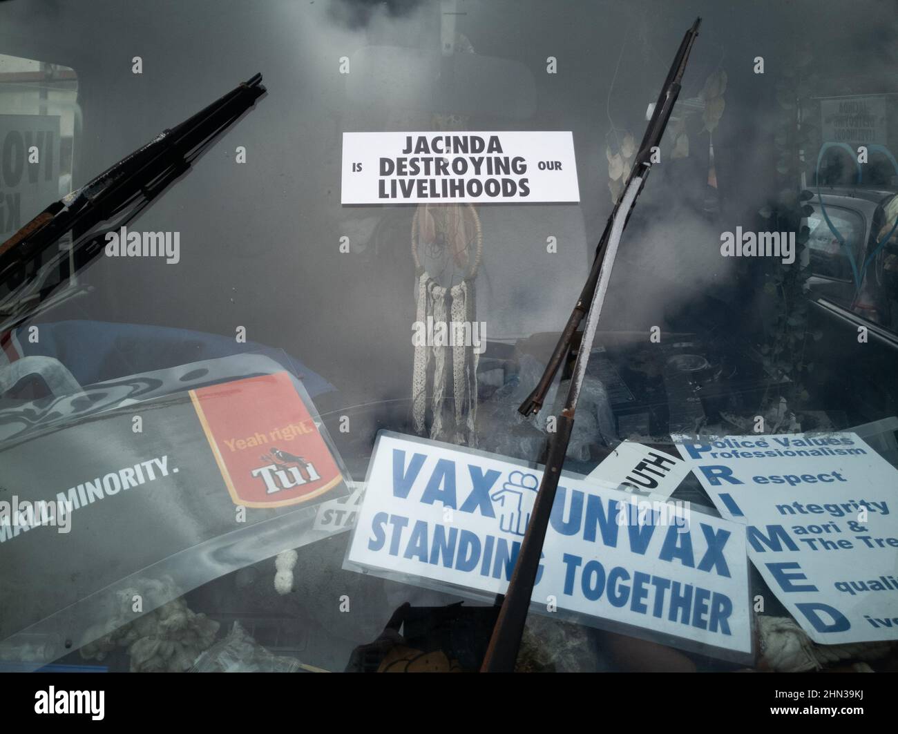
[[(540, 479), (511, 459), (381, 432), (344, 565), (502, 593)], [(752, 648), (743, 527), (567, 473), (533, 602), (681, 647)]]

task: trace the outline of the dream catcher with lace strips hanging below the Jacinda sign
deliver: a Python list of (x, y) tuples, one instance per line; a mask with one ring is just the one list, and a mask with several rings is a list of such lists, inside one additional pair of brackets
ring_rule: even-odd
[[(418, 328), (412, 371), (412, 421), (418, 435), (477, 442), (477, 304), (474, 281), (483, 257), (480, 217), (470, 204), (418, 205), (411, 223)], [(482, 339), (482, 335), (478, 336)]]

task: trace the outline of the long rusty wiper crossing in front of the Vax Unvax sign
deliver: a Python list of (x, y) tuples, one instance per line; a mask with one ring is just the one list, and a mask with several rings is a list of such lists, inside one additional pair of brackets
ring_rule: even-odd
[[(515, 669), (517, 650), (524, 633), (524, 622), (530, 608), (533, 585), (540, 565), (542, 543), (549, 527), (552, 504), (555, 502), (555, 494), (561, 477), (561, 467), (564, 465), (565, 454), (568, 453), (568, 442), (574, 427), (574, 413), (577, 410), (580, 387), (583, 384), (586, 365), (589, 362), (590, 347), (599, 323), (599, 316), (602, 313), (605, 293), (611, 281), (618, 244), (621, 241), (624, 227), (627, 225), (630, 211), (636, 203), (636, 198), (651, 169), (652, 148), (660, 143), (671, 110), (674, 109), (674, 102), (680, 93), (680, 80), (686, 68), (692, 44), (699, 33), (700, 22), (701, 19), (697, 18), (682, 39), (680, 50), (674, 58), (674, 65), (671, 66), (667, 74), (665, 86), (658, 98), (652, 118), (649, 120), (646, 135), (642, 138), (642, 144), (639, 146), (639, 152), (627, 179), (623, 196), (614, 206), (611, 218), (605, 225), (592, 270), (583, 292), (580, 293), (577, 306), (568, 319), (568, 326), (565, 328), (559, 344), (555, 347), (555, 353), (552, 354), (552, 360), (546, 368), (540, 384), (530, 398), (524, 401), (524, 405), (519, 408), (524, 415), (530, 415), (539, 410), (555, 372), (558, 371), (559, 365), (568, 354), (571, 338), (585, 315), (583, 338), (577, 352), (577, 361), (574, 363), (574, 374), (570, 380), (568, 398), (561, 415), (559, 415), (556, 433), (553, 433), (550, 438), (540, 489), (536, 494), (530, 522), (527, 524), (524, 541), (521, 543), (521, 549), (517, 555), (515, 571), (512, 572), (511, 581), (508, 583), (508, 590), (489, 640), (487, 654), (480, 668), (482, 672), (511, 672)], [(587, 303), (589, 304), (588, 310)]]

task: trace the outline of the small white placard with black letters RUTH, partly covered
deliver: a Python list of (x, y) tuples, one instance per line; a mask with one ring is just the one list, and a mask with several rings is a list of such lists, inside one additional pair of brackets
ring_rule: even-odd
[(634, 441), (622, 441), (588, 478), (623, 492), (669, 497), (689, 472), (690, 463), (678, 456)]

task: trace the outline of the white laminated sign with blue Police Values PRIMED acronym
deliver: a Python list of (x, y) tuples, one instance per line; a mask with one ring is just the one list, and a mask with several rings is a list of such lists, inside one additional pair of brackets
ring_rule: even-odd
[(814, 642), (898, 638), (898, 471), (857, 433), (675, 440)]

